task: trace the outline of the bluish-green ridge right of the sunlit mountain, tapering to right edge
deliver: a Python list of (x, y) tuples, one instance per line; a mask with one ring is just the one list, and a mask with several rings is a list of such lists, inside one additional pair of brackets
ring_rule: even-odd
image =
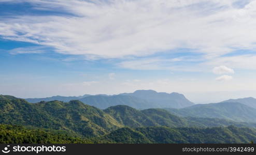
[(231, 125), (236, 127), (256, 127), (256, 123), (235, 122), (220, 118), (178, 117), (160, 108), (139, 111), (127, 105), (117, 105), (106, 108), (104, 112), (111, 115), (122, 125), (131, 128), (154, 126), (206, 128), (227, 127)]

